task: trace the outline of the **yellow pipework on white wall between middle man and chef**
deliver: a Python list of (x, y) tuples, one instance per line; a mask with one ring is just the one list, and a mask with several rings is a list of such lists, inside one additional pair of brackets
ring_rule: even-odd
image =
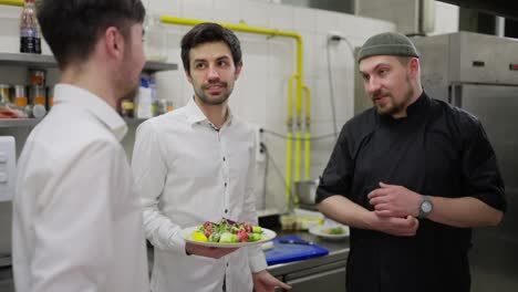
[[(180, 24), (180, 25), (196, 25), (203, 22), (207, 22), (204, 20), (196, 20), (196, 19), (186, 19), (186, 18), (175, 18), (175, 17), (169, 17), (169, 15), (163, 15), (160, 17), (162, 22), (164, 23), (170, 23), (170, 24)], [(287, 38), (293, 38), (297, 41), (297, 73), (290, 77), (290, 85), (289, 85), (289, 97), (288, 97), (288, 118), (287, 118), (287, 127), (288, 127), (288, 142), (287, 142), (287, 157), (286, 157), (286, 196), (288, 199), (288, 202), (291, 201), (292, 198), (292, 191), (291, 191), (291, 184), (292, 184), (292, 178), (291, 178), (291, 164), (292, 164), (292, 139), (293, 139), (293, 125), (292, 125), (292, 81), (293, 79), (297, 79), (297, 126), (298, 126), (298, 132), (297, 132), (297, 144), (296, 144), (296, 178), (297, 180), (300, 180), (300, 159), (301, 159), (301, 124), (302, 124), (302, 36), (297, 33), (297, 32), (290, 32), (290, 31), (281, 31), (281, 30), (276, 30), (276, 29), (265, 29), (265, 28), (257, 28), (257, 27), (249, 27), (244, 23), (239, 24), (234, 24), (234, 23), (224, 23), (224, 22), (218, 22), (220, 25), (234, 30), (234, 31), (241, 31), (241, 32), (249, 32), (249, 33), (258, 33), (258, 34), (267, 34), (271, 36), (287, 36)], [(308, 91), (309, 92), (309, 91)], [(309, 98), (309, 97), (308, 97)], [(307, 109), (307, 113), (308, 109)], [(308, 117), (307, 117), (308, 121)], [(307, 131), (305, 136), (309, 136), (309, 133)], [(305, 150), (309, 150), (309, 139), (305, 139)], [(309, 153), (305, 153), (305, 176), (309, 178), (309, 160), (310, 160), (310, 155)]]

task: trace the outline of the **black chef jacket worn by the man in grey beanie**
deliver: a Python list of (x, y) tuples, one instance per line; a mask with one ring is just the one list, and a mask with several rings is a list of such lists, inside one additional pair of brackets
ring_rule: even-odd
[[(506, 209), (495, 152), (479, 121), (424, 92), (404, 118), (381, 116), (373, 107), (343, 126), (317, 201), (343, 195), (373, 210), (367, 194), (380, 181)], [(415, 237), (351, 228), (348, 292), (467, 292), (470, 240), (470, 228), (427, 219)]]

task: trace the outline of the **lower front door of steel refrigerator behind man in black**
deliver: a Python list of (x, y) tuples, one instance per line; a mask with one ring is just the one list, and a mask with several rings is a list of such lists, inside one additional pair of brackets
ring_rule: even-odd
[(462, 107), (486, 129), (509, 204), (498, 227), (474, 229), (473, 291), (518, 291), (518, 86), (462, 85), (457, 92)]

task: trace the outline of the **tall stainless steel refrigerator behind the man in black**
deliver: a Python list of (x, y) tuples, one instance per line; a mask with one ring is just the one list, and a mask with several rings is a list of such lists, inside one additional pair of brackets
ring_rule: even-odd
[(424, 90), (480, 119), (506, 185), (503, 222), (474, 229), (472, 291), (518, 291), (518, 41), (458, 32), (413, 42)]

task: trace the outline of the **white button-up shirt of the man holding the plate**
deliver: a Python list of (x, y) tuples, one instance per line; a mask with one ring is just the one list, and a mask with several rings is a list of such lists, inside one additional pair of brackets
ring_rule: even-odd
[(155, 247), (152, 291), (252, 291), (251, 272), (267, 268), (259, 247), (219, 260), (187, 255), (182, 229), (222, 217), (257, 223), (255, 134), (229, 114), (216, 131), (191, 100), (151, 118), (136, 134), (132, 168)]

